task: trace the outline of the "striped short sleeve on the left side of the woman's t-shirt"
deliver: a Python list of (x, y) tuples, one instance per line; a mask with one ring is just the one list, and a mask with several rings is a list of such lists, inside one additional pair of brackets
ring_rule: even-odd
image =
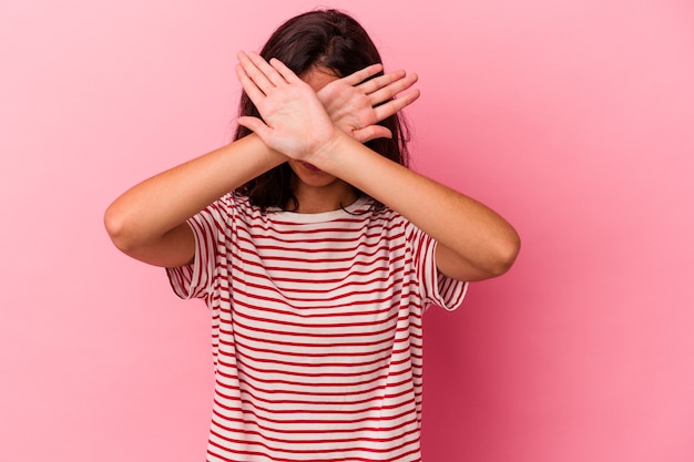
[(206, 298), (212, 292), (218, 247), (224, 243), (229, 205), (229, 198), (225, 196), (188, 218), (187, 225), (195, 237), (193, 263), (166, 268), (171, 287), (180, 298)]

